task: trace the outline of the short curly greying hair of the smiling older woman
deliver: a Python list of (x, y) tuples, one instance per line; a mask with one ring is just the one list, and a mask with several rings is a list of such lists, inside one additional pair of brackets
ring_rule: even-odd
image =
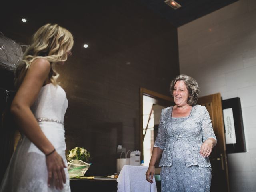
[(170, 92), (172, 97), (173, 97), (173, 88), (177, 81), (183, 81), (188, 89), (189, 97), (188, 97), (187, 103), (190, 106), (196, 105), (196, 102), (198, 100), (198, 96), (200, 93), (198, 82), (194, 80), (194, 78), (188, 75), (181, 74), (176, 76), (174, 80), (172, 80), (172, 82), (170, 83)]

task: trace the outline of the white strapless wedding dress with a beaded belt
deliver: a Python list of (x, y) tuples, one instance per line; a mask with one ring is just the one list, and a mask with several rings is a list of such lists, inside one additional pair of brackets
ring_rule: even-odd
[[(38, 120), (40, 128), (62, 156), (66, 166), (63, 120), (67, 107), (65, 91), (51, 83), (41, 88), (31, 107), (36, 119), (41, 119)], [(57, 190), (53, 184), (48, 187), (45, 155), (26, 136), (22, 136), (6, 170), (0, 192), (70, 192), (67, 168), (65, 174), (66, 184), (62, 190)]]

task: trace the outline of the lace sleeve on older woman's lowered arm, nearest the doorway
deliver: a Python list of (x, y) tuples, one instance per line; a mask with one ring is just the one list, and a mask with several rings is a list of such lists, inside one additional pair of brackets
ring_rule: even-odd
[(161, 118), (158, 126), (158, 133), (156, 136), (156, 141), (154, 143), (154, 147), (159, 147), (160, 149), (164, 149), (164, 145), (166, 143), (166, 132), (163, 123), (164, 110), (161, 112)]

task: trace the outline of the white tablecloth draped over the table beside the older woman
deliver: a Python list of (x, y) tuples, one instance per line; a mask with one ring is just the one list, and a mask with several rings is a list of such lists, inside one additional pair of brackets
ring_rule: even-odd
[(157, 192), (155, 177), (150, 184), (146, 180), (146, 166), (125, 165), (117, 179), (117, 192)]

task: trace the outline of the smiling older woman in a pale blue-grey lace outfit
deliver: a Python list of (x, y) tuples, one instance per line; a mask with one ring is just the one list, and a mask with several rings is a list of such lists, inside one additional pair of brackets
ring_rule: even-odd
[(198, 83), (179, 75), (172, 80), (170, 90), (175, 106), (162, 110), (146, 180), (153, 182), (154, 166), (162, 155), (162, 192), (210, 192), (209, 155), (216, 136), (208, 111), (196, 105)]

